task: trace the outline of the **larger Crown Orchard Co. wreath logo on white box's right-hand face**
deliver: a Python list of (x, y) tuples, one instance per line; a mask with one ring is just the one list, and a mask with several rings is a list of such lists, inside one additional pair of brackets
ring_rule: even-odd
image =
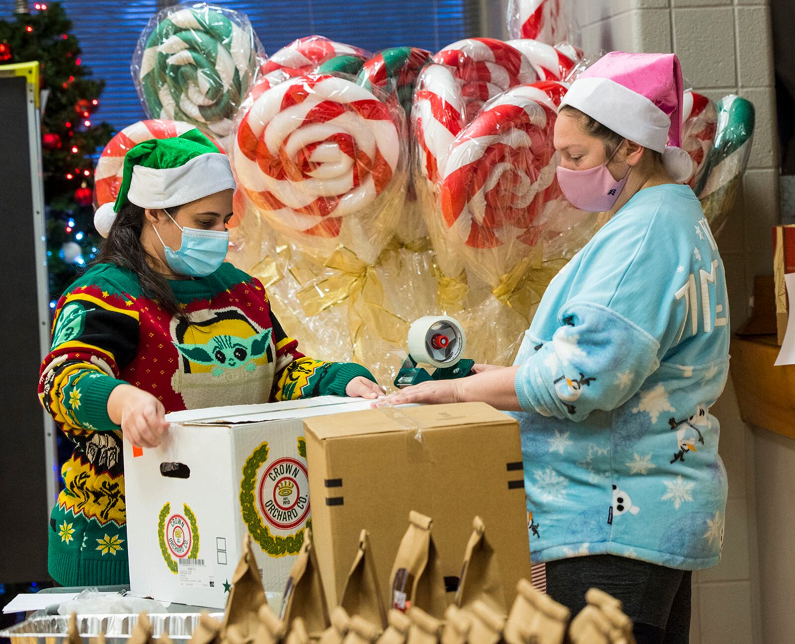
[[(297, 440), (298, 454), (306, 458), (306, 443)], [(270, 448), (262, 443), (246, 459), (240, 482), (240, 509), (251, 537), (270, 557), (297, 554), (304, 544), (305, 526), (310, 526), (309, 484), (306, 464), (285, 456), (268, 463)], [(262, 466), (259, 485), (257, 473)], [(263, 521), (264, 519), (264, 521)], [(269, 527), (270, 526), (270, 527)], [(293, 534), (271, 533), (271, 528)]]

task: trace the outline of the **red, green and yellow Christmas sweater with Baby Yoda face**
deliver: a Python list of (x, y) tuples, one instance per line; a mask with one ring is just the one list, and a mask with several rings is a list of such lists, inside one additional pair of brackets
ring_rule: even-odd
[(115, 386), (137, 386), (173, 412), (344, 396), (351, 379), (372, 378), (357, 364), (302, 355), (262, 284), (231, 264), (170, 285), (190, 324), (111, 264), (88, 270), (58, 302), (39, 397), (76, 443), (49, 530), (49, 572), (64, 586), (129, 583), (122, 432), (107, 413)]

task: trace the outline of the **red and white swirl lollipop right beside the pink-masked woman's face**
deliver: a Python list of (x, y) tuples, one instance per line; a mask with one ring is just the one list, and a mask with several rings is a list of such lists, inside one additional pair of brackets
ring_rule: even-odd
[(445, 247), (492, 285), (541, 239), (536, 219), (559, 196), (553, 129), (566, 87), (506, 91), (457, 137), (441, 170)]

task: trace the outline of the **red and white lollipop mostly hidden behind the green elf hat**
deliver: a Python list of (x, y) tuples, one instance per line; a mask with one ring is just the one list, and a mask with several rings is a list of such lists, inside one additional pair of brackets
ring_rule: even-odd
[(148, 121), (134, 122), (126, 126), (111, 138), (94, 169), (94, 200), (95, 206), (115, 201), (118, 187), (122, 184), (122, 171), (124, 169), (124, 155), (127, 150), (138, 143), (149, 141), (151, 138), (178, 137), (193, 127), (183, 121), (165, 121), (153, 118)]

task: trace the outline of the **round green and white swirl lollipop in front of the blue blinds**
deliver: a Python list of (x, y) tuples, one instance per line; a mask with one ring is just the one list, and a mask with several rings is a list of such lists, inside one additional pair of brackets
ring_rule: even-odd
[(250, 90), (260, 49), (243, 14), (206, 3), (169, 7), (149, 20), (131, 71), (150, 118), (223, 138)]

